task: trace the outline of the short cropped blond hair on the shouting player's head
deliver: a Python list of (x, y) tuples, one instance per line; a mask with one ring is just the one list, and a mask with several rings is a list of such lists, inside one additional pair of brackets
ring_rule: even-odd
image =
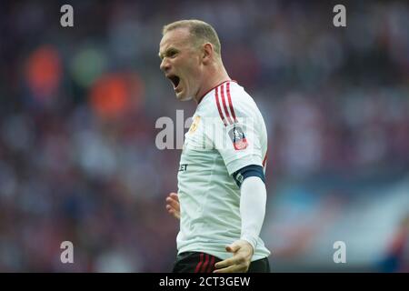
[(203, 45), (209, 42), (214, 46), (214, 52), (218, 57), (221, 57), (221, 45), (219, 36), (215, 32), (212, 25), (205, 23), (205, 21), (197, 19), (179, 20), (171, 24), (165, 25), (162, 29), (162, 35), (176, 28), (188, 28), (190, 35), (194, 37), (195, 45)]

